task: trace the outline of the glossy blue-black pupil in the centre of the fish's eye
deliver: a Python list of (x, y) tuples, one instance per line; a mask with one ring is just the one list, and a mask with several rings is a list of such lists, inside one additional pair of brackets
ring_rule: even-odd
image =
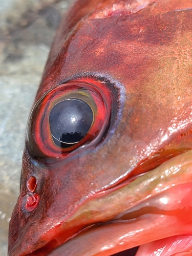
[(87, 135), (93, 121), (90, 106), (80, 99), (66, 99), (50, 112), (52, 138), (57, 146), (70, 147)]

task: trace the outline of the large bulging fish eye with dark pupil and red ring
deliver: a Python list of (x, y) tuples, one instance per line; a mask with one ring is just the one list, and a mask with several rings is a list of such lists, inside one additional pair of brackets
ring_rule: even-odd
[(47, 162), (98, 145), (111, 125), (112, 97), (106, 84), (90, 78), (48, 91), (29, 117), (26, 147), (30, 155)]

